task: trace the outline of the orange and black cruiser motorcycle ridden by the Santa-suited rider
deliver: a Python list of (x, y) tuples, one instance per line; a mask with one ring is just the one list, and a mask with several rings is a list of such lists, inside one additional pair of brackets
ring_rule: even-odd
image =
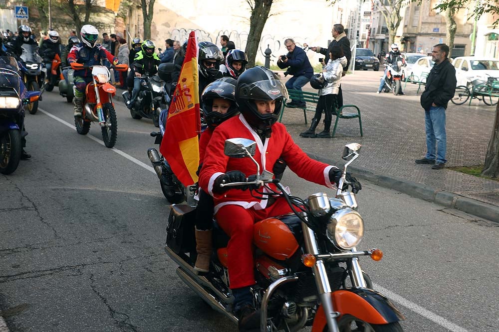
[[(360, 147), (358, 143), (345, 146), (342, 157), (347, 162), (334, 198), (316, 193), (302, 200), (289, 195), (272, 173), (260, 173), (253, 158), (254, 141), (226, 140), (224, 153), (251, 158), (257, 174), (250, 177), (254, 181), (221, 186), (247, 185), (258, 195), (261, 190), (254, 188), (274, 183), (278, 191), (272, 194), (285, 198), (294, 211), (258, 221), (253, 227), (256, 285), (251, 292), (253, 306), (260, 310), (261, 332), (299, 331), (305, 326), (311, 326), (312, 332), (402, 332), (402, 315), (373, 290), (359, 263), (362, 256), (375, 261), (383, 256), (379, 249), (356, 248), (364, 236), (364, 221), (357, 212), (356, 190), (348, 190), (346, 169), (359, 156)], [(237, 323), (227, 269), (229, 237), (214, 222), (210, 272), (197, 275), (195, 216), (194, 207), (172, 205), (165, 250), (179, 265), (180, 279)]]

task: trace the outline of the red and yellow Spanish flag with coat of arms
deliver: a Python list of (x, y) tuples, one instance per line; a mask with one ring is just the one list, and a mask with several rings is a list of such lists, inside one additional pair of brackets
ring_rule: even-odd
[(201, 133), (198, 52), (196, 32), (191, 31), (184, 64), (168, 110), (165, 136), (159, 149), (184, 186), (198, 181), (198, 135)]

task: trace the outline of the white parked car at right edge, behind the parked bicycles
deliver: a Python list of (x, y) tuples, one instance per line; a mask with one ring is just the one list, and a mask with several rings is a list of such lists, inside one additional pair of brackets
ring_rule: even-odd
[(475, 80), (487, 81), (489, 77), (499, 78), (499, 60), (476, 56), (457, 57), (452, 62), (456, 68), (457, 86), (468, 86)]

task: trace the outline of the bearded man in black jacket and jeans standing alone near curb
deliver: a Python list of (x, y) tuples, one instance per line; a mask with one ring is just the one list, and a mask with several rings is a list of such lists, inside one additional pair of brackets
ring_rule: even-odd
[[(447, 159), (447, 136), (445, 133), (445, 110), (456, 92), (456, 70), (447, 55), (449, 46), (433, 46), (432, 60), (435, 65), (426, 79), (425, 91), (421, 95), (421, 106), (425, 110), (426, 156), (416, 164), (433, 164), (432, 169), (445, 167)], [(436, 148), (435, 148), (436, 146)]]

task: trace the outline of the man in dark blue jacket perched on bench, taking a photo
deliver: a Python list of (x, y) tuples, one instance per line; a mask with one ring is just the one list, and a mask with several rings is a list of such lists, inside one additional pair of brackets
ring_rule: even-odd
[[(286, 82), (286, 89), (301, 91), (301, 87), (307, 84), (313, 75), (312, 65), (310, 65), (310, 61), (308, 60), (305, 51), (300, 47), (296, 47), (294, 40), (291, 38), (284, 40), (284, 46), (286, 46), (288, 53), (279, 57), (277, 66), (280, 69), (287, 68), (284, 76), (287, 76), (288, 74), (293, 76)], [(287, 103), (286, 106), (303, 107), (305, 106), (305, 102), (292, 100), (290, 103)]]

